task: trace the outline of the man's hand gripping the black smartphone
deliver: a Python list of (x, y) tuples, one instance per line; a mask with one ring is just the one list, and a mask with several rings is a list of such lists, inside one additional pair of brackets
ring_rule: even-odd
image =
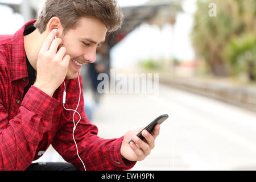
[[(121, 145), (121, 155), (123, 158), (130, 161), (144, 160), (155, 147), (155, 139), (160, 133), (160, 125), (157, 124), (151, 134), (147, 130), (142, 131), (142, 136), (146, 139), (145, 142), (136, 136), (142, 129), (144, 127), (138, 130), (128, 131), (125, 134)], [(135, 143), (130, 142), (129, 144), (131, 139)]]

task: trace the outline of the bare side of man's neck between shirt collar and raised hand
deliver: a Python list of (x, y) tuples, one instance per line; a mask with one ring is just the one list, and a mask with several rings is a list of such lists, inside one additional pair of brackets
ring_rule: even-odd
[(46, 35), (40, 34), (39, 30), (36, 29), (31, 34), (24, 36), (24, 49), (27, 55), (28, 61), (31, 66), (36, 70), (36, 63), (38, 61), (38, 54), (42, 48)]

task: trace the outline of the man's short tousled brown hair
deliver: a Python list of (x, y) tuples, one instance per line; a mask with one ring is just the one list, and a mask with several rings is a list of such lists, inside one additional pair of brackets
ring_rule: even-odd
[(100, 20), (108, 32), (120, 28), (123, 20), (117, 0), (47, 0), (34, 24), (41, 34), (53, 16), (60, 19), (64, 33), (76, 28), (82, 16)]

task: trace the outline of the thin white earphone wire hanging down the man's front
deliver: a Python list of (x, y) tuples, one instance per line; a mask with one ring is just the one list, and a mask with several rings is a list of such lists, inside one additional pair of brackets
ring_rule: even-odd
[[(80, 72), (79, 72), (79, 76), (80, 76)], [(73, 140), (74, 140), (75, 145), (76, 145), (76, 153), (77, 153), (77, 156), (78, 156), (79, 159), (81, 160), (82, 166), (84, 166), (84, 170), (86, 171), (84, 162), (83, 162), (82, 159), (80, 158), (79, 151), (78, 151), (78, 147), (77, 147), (77, 143), (76, 143), (76, 139), (75, 139), (75, 130), (76, 130), (76, 126), (78, 125), (78, 123), (79, 123), (80, 120), (81, 120), (81, 115), (80, 115), (79, 112), (77, 111), (77, 109), (78, 109), (78, 107), (79, 107), (79, 104), (80, 104), (80, 98), (81, 98), (81, 85), (80, 85), (79, 76), (78, 76), (78, 80), (79, 80), (79, 102), (78, 102), (78, 104), (77, 104), (76, 110), (65, 108), (65, 99), (66, 99), (66, 85), (65, 85), (65, 81), (64, 81), (64, 93), (63, 93), (63, 107), (64, 107), (65, 110), (74, 111), (74, 113), (73, 113), (73, 124), (74, 124), (74, 127), (73, 127), (72, 136), (73, 136)], [(79, 121), (77, 121), (77, 123), (75, 123), (75, 118), (74, 118), (74, 117), (75, 117), (75, 113), (79, 114)]]

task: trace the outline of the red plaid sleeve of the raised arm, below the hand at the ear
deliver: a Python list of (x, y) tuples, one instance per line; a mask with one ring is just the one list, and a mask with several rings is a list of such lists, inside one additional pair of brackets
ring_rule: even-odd
[(32, 86), (18, 114), (8, 121), (0, 100), (0, 171), (24, 170), (34, 159), (43, 134), (51, 128), (52, 110), (57, 101)]

